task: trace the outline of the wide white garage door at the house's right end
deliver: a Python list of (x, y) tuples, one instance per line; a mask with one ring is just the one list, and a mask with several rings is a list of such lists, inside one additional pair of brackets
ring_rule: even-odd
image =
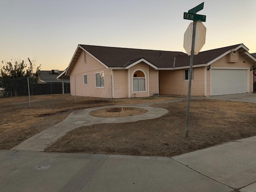
[(247, 70), (212, 69), (212, 95), (247, 92)]

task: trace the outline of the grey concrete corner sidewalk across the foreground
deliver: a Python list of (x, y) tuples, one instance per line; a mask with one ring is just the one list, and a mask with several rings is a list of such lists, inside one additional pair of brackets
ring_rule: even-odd
[(0, 151), (4, 192), (255, 192), (256, 136), (173, 158)]

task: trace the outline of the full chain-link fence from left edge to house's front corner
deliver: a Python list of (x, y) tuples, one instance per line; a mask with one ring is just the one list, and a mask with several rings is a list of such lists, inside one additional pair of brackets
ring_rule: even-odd
[(59, 82), (38, 83), (37, 78), (0, 80), (0, 112), (14, 108), (50, 106), (83, 101), (85, 97), (113, 98), (112, 76), (76, 74)]

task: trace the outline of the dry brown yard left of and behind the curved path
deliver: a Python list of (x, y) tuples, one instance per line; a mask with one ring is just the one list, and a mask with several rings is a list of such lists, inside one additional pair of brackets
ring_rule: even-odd
[(69, 95), (0, 98), (0, 149), (9, 150), (22, 141), (61, 122), (74, 110), (106, 105), (128, 105), (161, 102), (171, 97), (103, 99)]

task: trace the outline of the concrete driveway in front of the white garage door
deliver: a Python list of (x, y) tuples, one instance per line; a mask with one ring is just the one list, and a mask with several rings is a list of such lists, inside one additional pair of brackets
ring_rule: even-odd
[(248, 103), (256, 103), (256, 93), (243, 93), (232, 95), (217, 95), (205, 97), (204, 99), (224, 100), (224, 101), (240, 101)]

